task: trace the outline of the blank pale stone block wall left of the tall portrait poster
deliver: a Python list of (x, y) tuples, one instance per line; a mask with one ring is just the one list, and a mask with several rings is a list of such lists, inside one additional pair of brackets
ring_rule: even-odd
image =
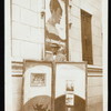
[(12, 0), (12, 58), (41, 60), (44, 47), (42, 0)]

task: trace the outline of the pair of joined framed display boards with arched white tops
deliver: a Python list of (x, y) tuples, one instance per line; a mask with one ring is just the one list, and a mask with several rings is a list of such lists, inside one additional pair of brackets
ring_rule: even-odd
[(85, 111), (85, 73), (84, 62), (26, 60), (23, 111)]

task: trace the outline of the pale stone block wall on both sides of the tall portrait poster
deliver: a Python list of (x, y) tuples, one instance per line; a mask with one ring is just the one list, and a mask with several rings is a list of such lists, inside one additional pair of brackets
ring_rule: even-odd
[[(12, 0), (12, 58), (43, 59), (44, 17), (43, 0)], [(102, 65), (101, 0), (69, 0), (71, 2), (69, 29), (69, 60), (82, 61), (81, 9), (92, 14), (93, 64)], [(70, 22), (69, 19), (69, 22)], [(30, 53), (29, 53), (30, 52)]]

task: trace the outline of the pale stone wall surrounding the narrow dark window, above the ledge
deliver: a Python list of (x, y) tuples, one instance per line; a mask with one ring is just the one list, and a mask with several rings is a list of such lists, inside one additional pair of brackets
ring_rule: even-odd
[(69, 30), (71, 61), (82, 61), (81, 9), (92, 14), (92, 53), (93, 64), (102, 65), (102, 21), (101, 0), (70, 0), (72, 27)]

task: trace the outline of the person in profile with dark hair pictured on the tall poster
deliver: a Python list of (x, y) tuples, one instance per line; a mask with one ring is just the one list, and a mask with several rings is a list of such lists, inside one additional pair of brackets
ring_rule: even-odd
[(65, 61), (65, 53), (63, 53), (65, 51), (65, 40), (61, 39), (61, 37), (59, 36), (59, 31), (56, 27), (56, 24), (60, 24), (63, 10), (58, 0), (50, 0), (49, 8), (51, 17), (46, 23), (46, 60)]

